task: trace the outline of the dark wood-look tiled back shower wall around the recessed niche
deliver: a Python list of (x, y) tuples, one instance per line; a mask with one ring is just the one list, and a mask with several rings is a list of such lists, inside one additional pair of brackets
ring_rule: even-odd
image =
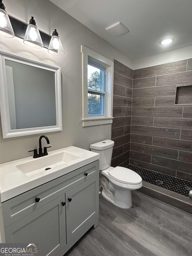
[(192, 181), (192, 105), (175, 105), (176, 86), (192, 84), (192, 59), (133, 78), (130, 164)]

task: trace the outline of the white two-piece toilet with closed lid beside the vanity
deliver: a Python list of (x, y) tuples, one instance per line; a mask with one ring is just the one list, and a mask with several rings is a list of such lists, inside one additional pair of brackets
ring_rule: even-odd
[(114, 141), (103, 140), (90, 145), (91, 151), (100, 154), (99, 170), (103, 187), (102, 196), (114, 205), (128, 209), (132, 206), (131, 190), (143, 186), (142, 178), (125, 167), (111, 167)]

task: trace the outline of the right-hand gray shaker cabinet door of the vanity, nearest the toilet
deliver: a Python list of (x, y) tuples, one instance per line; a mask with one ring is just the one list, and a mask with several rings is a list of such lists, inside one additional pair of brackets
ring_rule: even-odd
[(99, 175), (65, 193), (67, 244), (98, 225)]

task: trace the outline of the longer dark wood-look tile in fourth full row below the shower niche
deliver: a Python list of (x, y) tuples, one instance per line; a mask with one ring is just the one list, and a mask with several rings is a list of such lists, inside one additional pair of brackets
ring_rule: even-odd
[(187, 140), (175, 140), (168, 138), (153, 137), (153, 145), (192, 152), (192, 143)]

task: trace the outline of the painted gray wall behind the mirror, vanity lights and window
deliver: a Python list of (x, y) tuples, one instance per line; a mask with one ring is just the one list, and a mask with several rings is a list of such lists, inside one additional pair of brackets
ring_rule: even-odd
[[(27, 47), (20, 38), (1, 38), (0, 40), (0, 48), (3, 50), (61, 67), (63, 131), (46, 134), (52, 146), (49, 150), (71, 145), (89, 149), (91, 143), (110, 139), (111, 125), (82, 127), (81, 45), (91, 48), (110, 60), (117, 59), (129, 67), (132, 67), (132, 61), (47, 0), (4, 0), (3, 3), (10, 16), (25, 23), (29, 23), (31, 16), (34, 16), (38, 28), (49, 35), (57, 29), (63, 44), (65, 54), (58, 57), (49, 54), (45, 48)], [(0, 125), (0, 163), (32, 155), (28, 150), (38, 146), (40, 135), (3, 139)], [(46, 142), (42, 141), (42, 143), (42, 146), (45, 146)]]

